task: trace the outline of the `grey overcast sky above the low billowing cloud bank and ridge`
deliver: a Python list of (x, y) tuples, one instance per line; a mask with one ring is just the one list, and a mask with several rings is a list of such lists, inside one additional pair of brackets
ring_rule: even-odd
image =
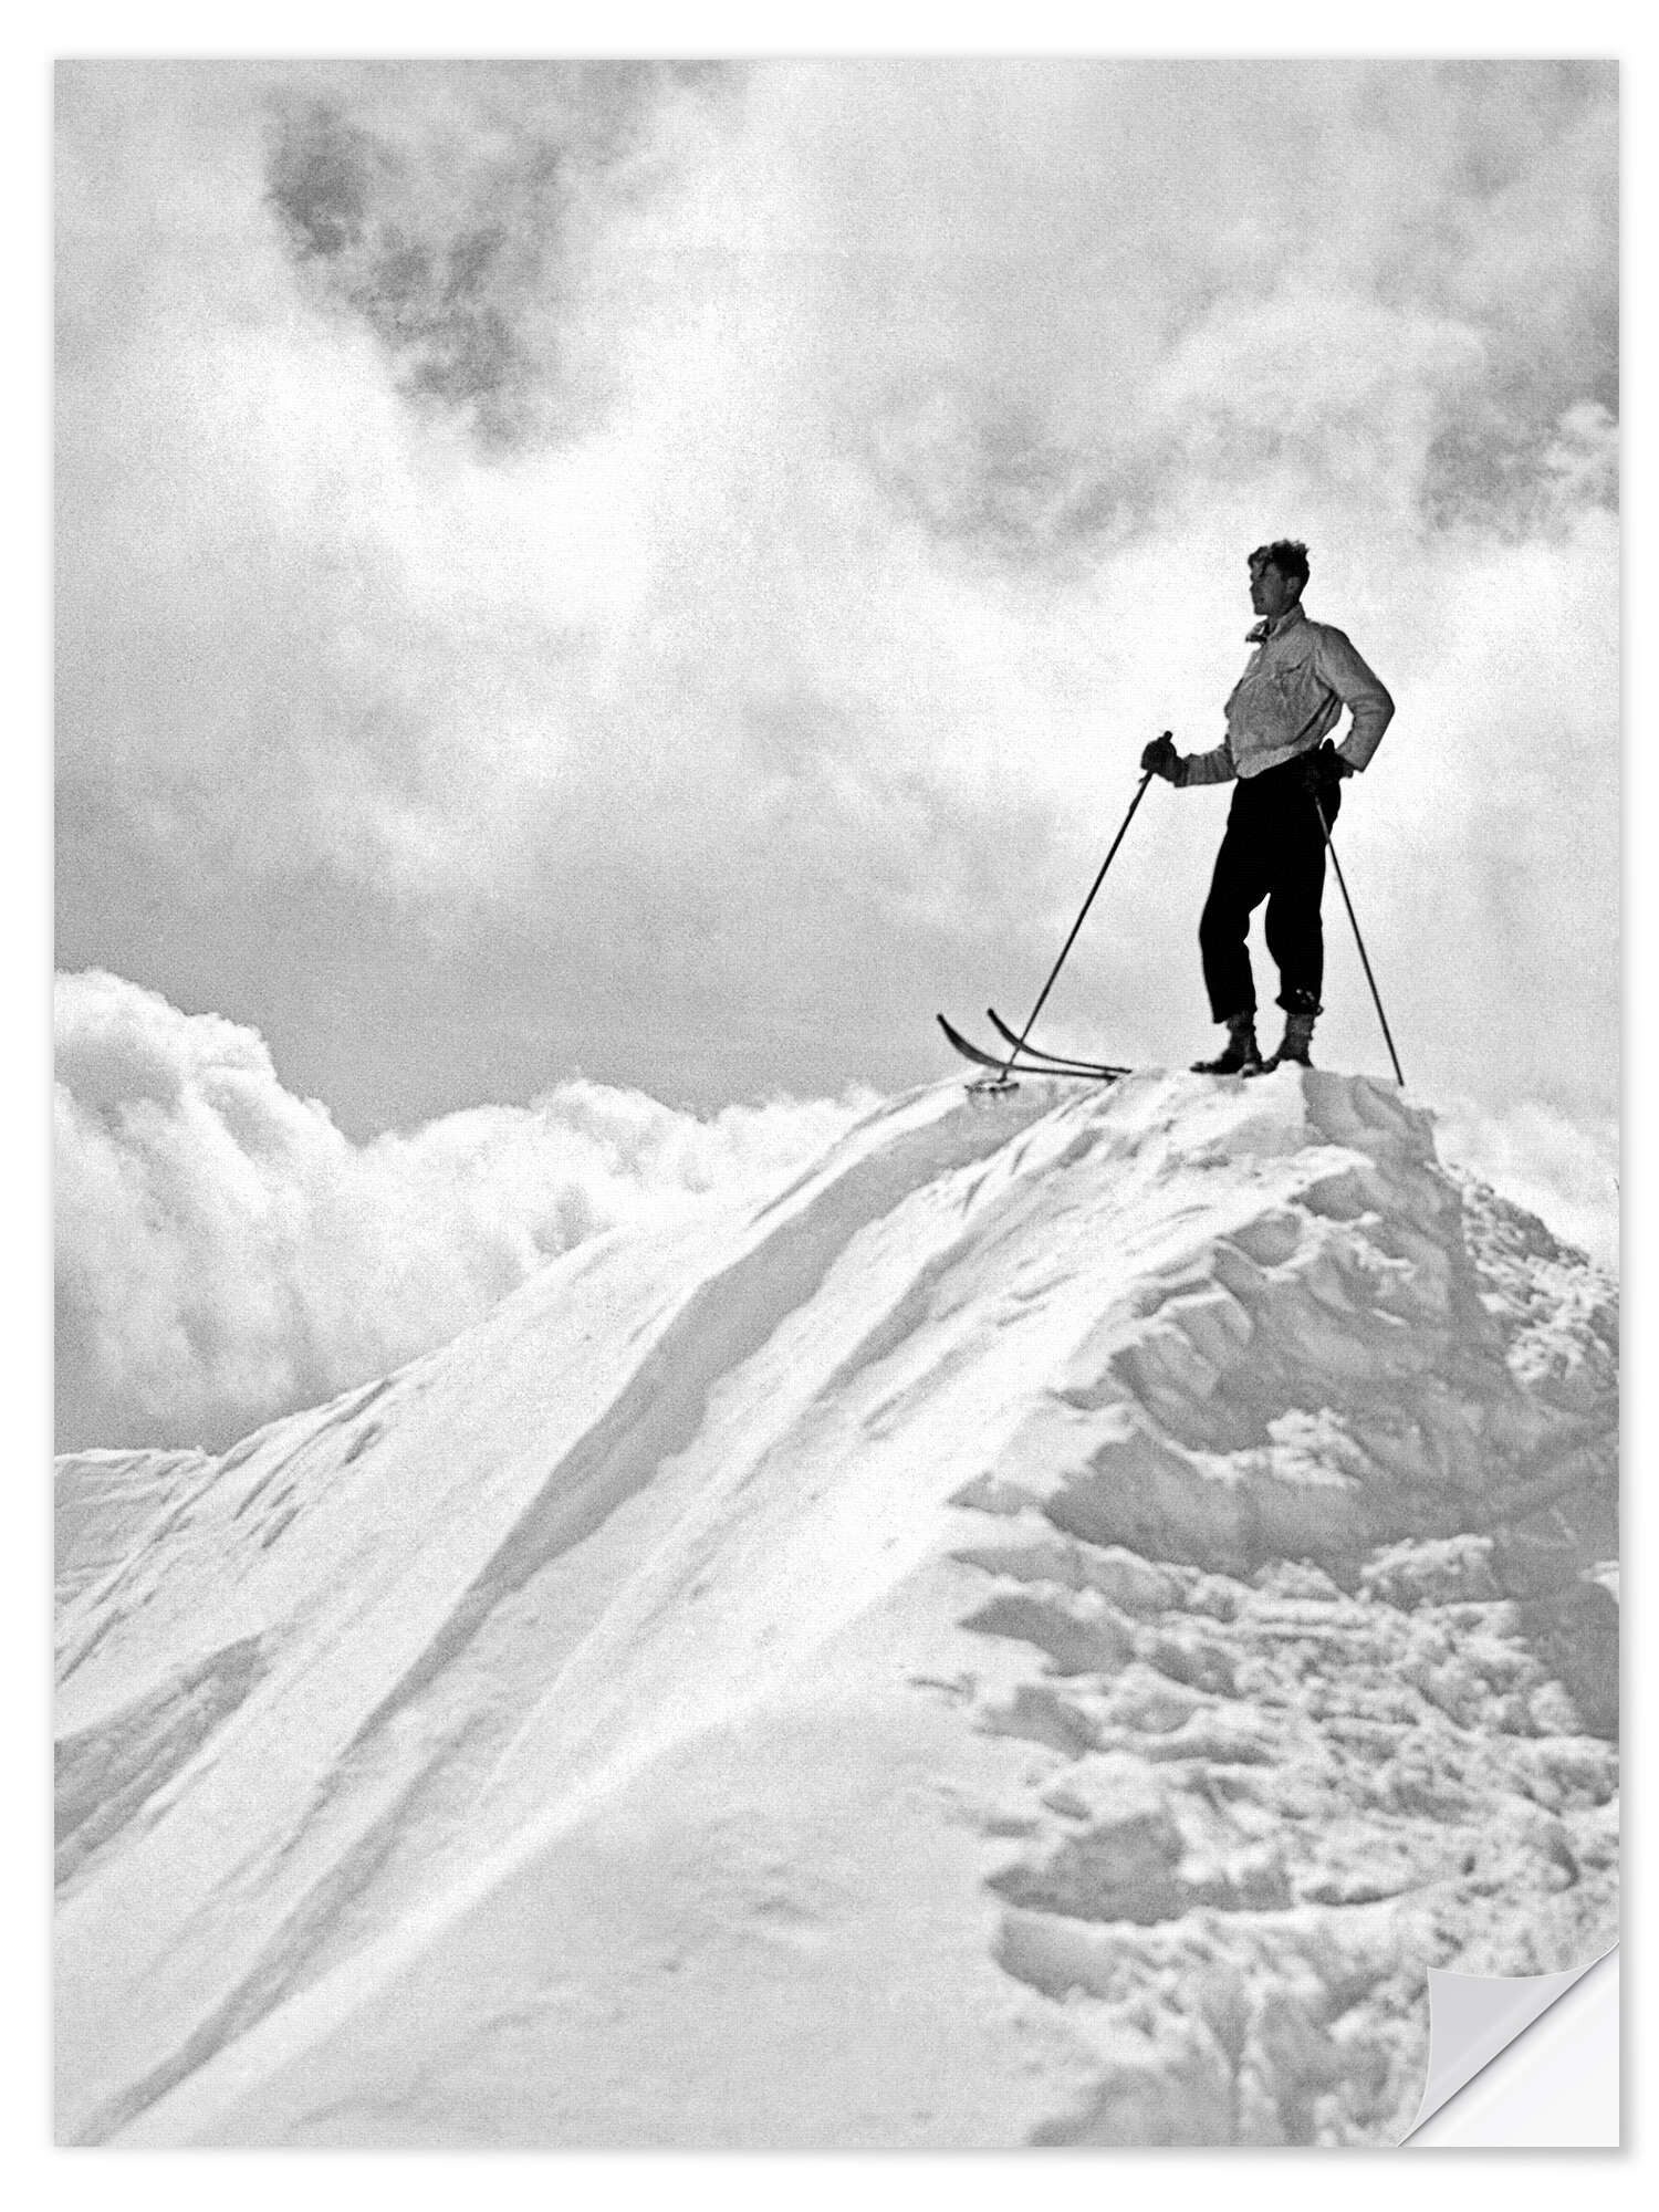
[[(1604, 64), (62, 66), (58, 964), (142, 987), (75, 1020), (358, 1150), (945, 1073), (1298, 535), (1411, 1086), (1606, 1241), (1615, 226)], [(1212, 1046), (1225, 803), (1148, 794), (1055, 1037)]]

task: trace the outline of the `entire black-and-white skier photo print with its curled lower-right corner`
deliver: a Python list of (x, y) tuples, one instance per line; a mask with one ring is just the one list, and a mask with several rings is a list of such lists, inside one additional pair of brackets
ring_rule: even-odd
[(1619, 62), (451, 29), (46, 71), (55, 2143), (1405, 2146), (1619, 1940)]

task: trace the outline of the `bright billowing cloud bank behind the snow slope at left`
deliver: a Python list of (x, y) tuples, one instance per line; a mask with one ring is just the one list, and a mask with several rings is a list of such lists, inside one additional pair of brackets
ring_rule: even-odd
[(263, 1040), (60, 975), (58, 1442), (223, 1447), (385, 1374), (619, 1221), (783, 1179), (867, 1099), (710, 1119), (562, 1084), (349, 1144)]

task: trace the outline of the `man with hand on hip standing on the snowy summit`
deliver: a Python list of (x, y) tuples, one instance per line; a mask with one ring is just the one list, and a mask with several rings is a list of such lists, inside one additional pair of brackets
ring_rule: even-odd
[[(1228, 834), (1199, 922), (1210, 1013), (1228, 1026), (1225, 1051), (1199, 1060), (1199, 1075), (1265, 1075), (1283, 1060), (1312, 1064), (1318, 989), (1325, 975), (1325, 825), (1336, 821), (1343, 779), (1371, 759), (1394, 717), (1394, 699), (1340, 630), (1310, 622), (1301, 597), (1307, 546), (1279, 538), (1250, 555), (1250, 604), (1261, 622), (1256, 650), (1228, 699), (1228, 734), (1214, 752), (1179, 754), (1164, 734), (1141, 768), (1170, 783), (1230, 783)], [(1340, 745), (1329, 732), (1349, 708)], [(1279, 964), (1285, 1037), (1272, 1060), (1256, 1044), (1256, 982), (1245, 936), (1267, 900), (1267, 951)]]

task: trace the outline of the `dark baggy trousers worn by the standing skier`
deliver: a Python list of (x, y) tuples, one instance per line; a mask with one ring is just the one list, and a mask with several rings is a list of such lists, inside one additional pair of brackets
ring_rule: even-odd
[[(1259, 776), (1241, 776), (1232, 794), (1228, 834), (1221, 838), (1199, 922), (1203, 987), (1217, 1022), (1256, 1011), (1245, 936), (1263, 898), (1267, 951), (1279, 964), (1279, 1004), (1287, 1013), (1318, 1013), (1318, 987), (1325, 980), (1325, 929), (1318, 918), (1325, 832), (1305, 774), (1307, 757), (1296, 754)], [(1327, 790), (1327, 823), (1336, 821), (1340, 805), (1340, 790)]]

